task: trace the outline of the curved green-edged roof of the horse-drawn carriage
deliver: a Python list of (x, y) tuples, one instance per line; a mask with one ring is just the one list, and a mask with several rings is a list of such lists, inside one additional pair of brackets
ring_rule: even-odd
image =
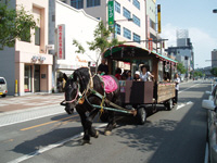
[(136, 47), (136, 46), (129, 46), (129, 45), (119, 45), (115, 47), (111, 47), (103, 53), (104, 58), (110, 58), (112, 60), (119, 60), (119, 61), (126, 61), (131, 62), (132, 60), (139, 58), (158, 58), (162, 61), (170, 62), (171, 64), (177, 64), (178, 62), (167, 58), (165, 55), (162, 55), (155, 51), (149, 52), (148, 49)]

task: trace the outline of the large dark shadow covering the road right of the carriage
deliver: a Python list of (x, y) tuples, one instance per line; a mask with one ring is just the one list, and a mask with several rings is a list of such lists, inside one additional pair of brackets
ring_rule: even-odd
[[(148, 122), (144, 126), (135, 125), (132, 128), (119, 127), (115, 134), (124, 138), (120, 143), (144, 154), (153, 152), (146, 161), (149, 163), (202, 163), (206, 143), (206, 111), (201, 108), (201, 101), (207, 98), (204, 95), (207, 85), (190, 90), (193, 92), (179, 95), (179, 102), (193, 102), (184, 108), (188, 111), (180, 121), (174, 120), (179, 120), (177, 113), (183, 112), (181, 109), (168, 112), (171, 117), (167, 120)], [(192, 98), (194, 93), (197, 93), (196, 98)], [(173, 120), (173, 116), (177, 118)]]

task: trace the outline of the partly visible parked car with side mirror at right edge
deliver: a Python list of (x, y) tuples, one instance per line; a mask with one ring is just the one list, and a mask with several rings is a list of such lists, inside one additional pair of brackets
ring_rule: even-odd
[(208, 100), (203, 100), (202, 108), (207, 109), (208, 162), (217, 163), (217, 86), (213, 87)]

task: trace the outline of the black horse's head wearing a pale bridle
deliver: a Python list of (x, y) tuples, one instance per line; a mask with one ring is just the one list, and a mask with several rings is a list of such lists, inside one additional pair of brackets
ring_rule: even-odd
[(65, 84), (65, 111), (68, 114), (73, 114), (74, 108), (77, 104), (78, 101), (78, 93), (79, 93), (79, 84), (76, 79), (72, 77), (67, 77), (64, 74), (64, 79), (66, 80)]

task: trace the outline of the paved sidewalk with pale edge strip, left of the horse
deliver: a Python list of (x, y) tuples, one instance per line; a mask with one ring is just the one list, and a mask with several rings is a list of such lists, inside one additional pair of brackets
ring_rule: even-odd
[(63, 93), (0, 98), (0, 127), (65, 113)]

